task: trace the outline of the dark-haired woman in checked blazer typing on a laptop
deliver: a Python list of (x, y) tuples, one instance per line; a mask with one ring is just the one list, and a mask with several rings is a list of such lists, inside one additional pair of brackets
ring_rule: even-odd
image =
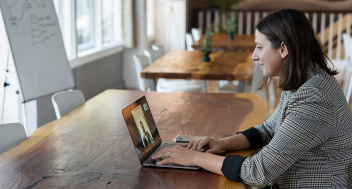
[[(154, 159), (199, 166), (256, 187), (352, 188), (352, 114), (306, 16), (282, 9), (256, 26), (252, 59), (264, 79), (279, 76), (280, 104), (261, 125), (220, 140), (203, 137), (186, 150), (158, 151)], [(206, 153), (199, 151), (209, 144)], [(186, 145), (184, 145), (186, 146)], [(223, 150), (263, 148), (252, 157), (222, 157)]]

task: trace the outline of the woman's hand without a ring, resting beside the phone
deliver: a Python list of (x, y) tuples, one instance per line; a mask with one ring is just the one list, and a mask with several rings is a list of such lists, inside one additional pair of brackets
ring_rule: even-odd
[(209, 150), (205, 151), (205, 153), (219, 153), (224, 150), (223, 141), (211, 138), (209, 136), (204, 136), (199, 140), (191, 141), (187, 144), (182, 144), (183, 147), (187, 146), (187, 149), (191, 149), (193, 151), (200, 151), (204, 146), (209, 145)]

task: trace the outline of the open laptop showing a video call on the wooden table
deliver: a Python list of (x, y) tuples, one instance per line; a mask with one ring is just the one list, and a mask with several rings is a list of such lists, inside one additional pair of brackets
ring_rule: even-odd
[(166, 158), (152, 159), (152, 155), (164, 148), (181, 146), (182, 143), (162, 142), (156, 129), (154, 118), (145, 96), (140, 97), (130, 106), (122, 110), (126, 125), (130, 132), (134, 148), (141, 165), (167, 168), (199, 170), (198, 166), (182, 166), (178, 164), (156, 165)]

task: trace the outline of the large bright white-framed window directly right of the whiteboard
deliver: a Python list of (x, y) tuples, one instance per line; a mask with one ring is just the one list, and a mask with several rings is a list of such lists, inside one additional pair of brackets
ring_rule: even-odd
[(96, 55), (123, 43), (122, 0), (53, 2), (68, 59)]

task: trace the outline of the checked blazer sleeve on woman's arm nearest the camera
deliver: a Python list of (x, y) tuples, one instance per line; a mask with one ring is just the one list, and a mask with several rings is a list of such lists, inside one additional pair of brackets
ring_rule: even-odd
[[(242, 181), (256, 187), (275, 181), (308, 151), (329, 138), (332, 115), (330, 96), (319, 87), (302, 86), (290, 99), (285, 120), (270, 143), (243, 160), (238, 173)], [(261, 127), (266, 129), (265, 125)], [(265, 137), (269, 138), (269, 134), (264, 134)]]

